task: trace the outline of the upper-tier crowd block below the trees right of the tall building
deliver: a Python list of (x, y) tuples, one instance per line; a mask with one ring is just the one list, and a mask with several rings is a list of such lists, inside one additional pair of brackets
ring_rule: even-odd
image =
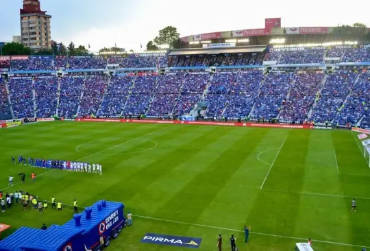
[(102, 56), (71, 56), (66, 65), (67, 69), (106, 69), (107, 60)]

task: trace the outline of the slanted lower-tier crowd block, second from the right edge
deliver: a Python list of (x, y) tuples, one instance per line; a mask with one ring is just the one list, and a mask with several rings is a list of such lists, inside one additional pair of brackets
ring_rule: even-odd
[(354, 87), (357, 76), (357, 73), (352, 73), (351, 71), (330, 73), (321, 94), (317, 97), (319, 101), (312, 112), (310, 120), (319, 123), (332, 121), (345, 98)]

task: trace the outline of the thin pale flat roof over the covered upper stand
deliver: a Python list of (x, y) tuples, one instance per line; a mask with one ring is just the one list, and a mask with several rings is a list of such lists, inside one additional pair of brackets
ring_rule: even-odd
[(219, 54), (219, 53), (251, 53), (262, 52), (266, 49), (266, 45), (260, 46), (243, 46), (232, 48), (199, 48), (199, 49), (174, 49), (169, 53), (170, 56), (181, 55), (198, 55), (198, 54)]

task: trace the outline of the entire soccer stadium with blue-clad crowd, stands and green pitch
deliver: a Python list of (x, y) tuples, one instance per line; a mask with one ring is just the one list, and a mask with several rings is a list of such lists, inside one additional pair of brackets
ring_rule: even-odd
[(0, 251), (369, 250), (367, 33), (1, 56)]

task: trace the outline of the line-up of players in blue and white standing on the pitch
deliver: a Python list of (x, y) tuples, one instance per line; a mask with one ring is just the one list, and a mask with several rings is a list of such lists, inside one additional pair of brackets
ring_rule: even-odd
[[(27, 165), (27, 160), (23, 158), (23, 156), (18, 156), (18, 163), (19, 165)], [(15, 158), (12, 157), (12, 164), (16, 164)], [(70, 160), (45, 160), (42, 158), (28, 158), (28, 165), (30, 167), (40, 167), (40, 168), (53, 168), (53, 169), (61, 169), (67, 171), (79, 171), (79, 172), (86, 172), (86, 173), (95, 173), (101, 174), (101, 165), (100, 164), (92, 164), (86, 162), (76, 162)]]

